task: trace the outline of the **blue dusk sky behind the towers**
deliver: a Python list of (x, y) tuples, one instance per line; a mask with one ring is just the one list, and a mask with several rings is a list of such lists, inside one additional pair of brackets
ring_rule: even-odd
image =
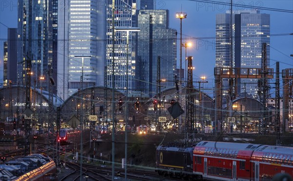
[[(207, 86), (213, 88), (213, 69), (215, 66), (215, 18), (216, 14), (226, 13), (230, 9), (230, 0), (201, 2), (203, 0), (157, 0), (157, 9), (168, 9), (170, 15), (169, 27), (178, 32), (177, 66), (179, 68), (180, 19), (175, 18), (176, 12), (187, 13), (182, 20), (183, 42), (190, 41), (193, 46), (188, 48), (193, 56), (194, 81), (205, 75), (209, 81)], [(209, 1), (209, 0), (208, 0)], [(275, 69), (275, 62), (280, 62), (280, 69), (293, 68), (293, 0), (234, 0), (233, 10), (259, 9), (260, 13), (271, 15), (271, 67)], [(182, 8), (182, 9), (181, 9)], [(262, 8), (272, 10), (262, 10)], [(282, 11), (289, 12), (282, 12)], [(0, 79), (2, 79), (3, 41), (7, 39), (7, 27), (17, 27), (17, 0), (0, 0)], [(292, 35), (287, 35), (292, 34)], [(182, 49), (182, 67), (185, 68), (185, 48)], [(275, 75), (274, 75), (275, 77)]]

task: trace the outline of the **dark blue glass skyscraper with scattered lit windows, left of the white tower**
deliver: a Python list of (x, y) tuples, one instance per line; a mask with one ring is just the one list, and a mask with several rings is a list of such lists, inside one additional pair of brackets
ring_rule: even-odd
[[(25, 84), (26, 66), (31, 62), (31, 83), (40, 88), (43, 81), (57, 77), (58, 0), (18, 1), (18, 82)], [(48, 73), (49, 72), (49, 73)], [(47, 89), (47, 84), (42, 88)], [(56, 89), (53, 90), (55, 92)]]

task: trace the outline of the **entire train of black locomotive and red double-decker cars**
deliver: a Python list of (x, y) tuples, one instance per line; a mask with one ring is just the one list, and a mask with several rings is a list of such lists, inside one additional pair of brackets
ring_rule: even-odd
[[(271, 181), (293, 177), (293, 147), (202, 141), (194, 147), (158, 146), (156, 171), (185, 179)], [(290, 179), (289, 179), (290, 178)]]

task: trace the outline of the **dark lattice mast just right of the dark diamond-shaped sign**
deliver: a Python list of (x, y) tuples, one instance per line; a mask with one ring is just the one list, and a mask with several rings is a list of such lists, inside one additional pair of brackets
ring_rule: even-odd
[[(192, 56), (188, 56), (188, 72), (187, 72), (187, 88), (186, 88), (186, 119), (185, 119), (185, 138), (187, 139), (188, 132), (192, 132), (194, 129), (194, 88), (193, 88), (193, 76), (192, 76)], [(185, 143), (186, 144), (186, 143)]]

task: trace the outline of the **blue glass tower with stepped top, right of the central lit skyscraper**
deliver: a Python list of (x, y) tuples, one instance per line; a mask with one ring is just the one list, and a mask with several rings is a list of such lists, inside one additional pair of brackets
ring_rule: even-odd
[(138, 13), (137, 89), (156, 94), (157, 61), (160, 56), (163, 88), (174, 86), (176, 74), (176, 30), (169, 28), (168, 10), (140, 10)]

